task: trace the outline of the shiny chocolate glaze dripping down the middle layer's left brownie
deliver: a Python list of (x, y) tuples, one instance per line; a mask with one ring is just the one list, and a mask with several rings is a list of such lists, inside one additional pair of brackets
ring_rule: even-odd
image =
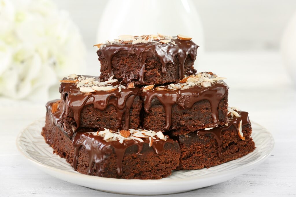
[[(92, 77), (92, 76), (88, 76)], [(99, 80), (96, 77), (96, 80)], [(118, 82), (112, 83), (113, 86), (119, 85)], [(139, 88), (118, 89), (113, 91), (96, 91), (92, 93), (80, 92), (74, 83), (61, 83), (59, 87), (64, 109), (61, 112), (61, 121), (65, 118), (66, 105), (71, 108), (77, 129), (80, 126), (80, 113), (84, 106), (93, 105), (95, 109), (105, 110), (109, 105), (113, 105), (117, 111), (118, 128), (128, 129), (130, 122), (130, 108), (136, 96), (141, 95)], [(125, 113), (126, 112), (126, 113)], [(122, 125), (123, 114), (125, 121)]]

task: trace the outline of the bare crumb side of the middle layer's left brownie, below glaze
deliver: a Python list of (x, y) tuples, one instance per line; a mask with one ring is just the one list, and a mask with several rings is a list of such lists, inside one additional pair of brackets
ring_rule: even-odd
[[(64, 102), (61, 102), (61, 109), (64, 108)], [(126, 107), (125, 107), (126, 108)], [(140, 112), (142, 108), (142, 101), (139, 96), (136, 96), (129, 111), (130, 113), (130, 125), (129, 128), (138, 128), (140, 126)], [(125, 109), (124, 109), (125, 110)], [(80, 127), (83, 128), (111, 128), (118, 129), (124, 125), (125, 113), (123, 113), (123, 119), (121, 123), (117, 119), (117, 111), (113, 105), (108, 105), (105, 110), (99, 110), (94, 108), (93, 105), (86, 105), (80, 113)], [(69, 136), (73, 136), (73, 128), (76, 128), (74, 114), (71, 108), (66, 104), (65, 116), (63, 120), (64, 130), (68, 131)]]

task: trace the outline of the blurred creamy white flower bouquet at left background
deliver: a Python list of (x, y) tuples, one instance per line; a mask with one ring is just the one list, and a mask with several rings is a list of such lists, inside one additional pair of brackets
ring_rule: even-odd
[(85, 46), (67, 13), (48, 0), (0, 0), (0, 95), (47, 100), (84, 67)]

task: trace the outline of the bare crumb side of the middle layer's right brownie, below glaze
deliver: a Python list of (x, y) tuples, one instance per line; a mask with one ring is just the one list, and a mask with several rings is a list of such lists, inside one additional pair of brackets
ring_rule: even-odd
[[(227, 102), (226, 96), (218, 106), (219, 125), (227, 123)], [(172, 135), (181, 135), (191, 132), (188, 126), (196, 129), (208, 128), (213, 124), (211, 105), (208, 100), (195, 102), (192, 108), (183, 109), (177, 104), (172, 108), (172, 126), (169, 130)], [(149, 113), (144, 112), (144, 129), (158, 131), (165, 127), (165, 110), (157, 98), (151, 102)]]

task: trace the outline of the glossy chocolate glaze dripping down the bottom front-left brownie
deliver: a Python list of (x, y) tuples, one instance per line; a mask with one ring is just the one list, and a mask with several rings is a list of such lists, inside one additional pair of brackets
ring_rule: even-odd
[[(81, 146), (83, 146), (89, 154), (89, 169), (88, 174), (93, 173), (93, 164), (96, 167), (96, 175), (101, 176), (104, 170), (103, 162), (113, 152), (116, 155), (117, 175), (122, 176), (122, 161), (126, 149), (131, 146), (137, 146), (138, 150), (136, 154), (140, 154), (143, 150), (144, 144), (149, 144), (149, 139), (143, 139), (144, 142), (135, 140), (126, 140), (121, 144), (118, 140), (116, 141), (104, 141), (103, 137), (97, 136), (95, 133), (81, 133), (78, 132), (73, 138), (73, 146), (75, 148), (75, 154), (73, 158), (73, 167), (77, 169), (78, 153)], [(166, 143), (176, 143), (172, 139), (155, 140), (152, 144), (152, 149), (156, 154), (162, 154)]]

